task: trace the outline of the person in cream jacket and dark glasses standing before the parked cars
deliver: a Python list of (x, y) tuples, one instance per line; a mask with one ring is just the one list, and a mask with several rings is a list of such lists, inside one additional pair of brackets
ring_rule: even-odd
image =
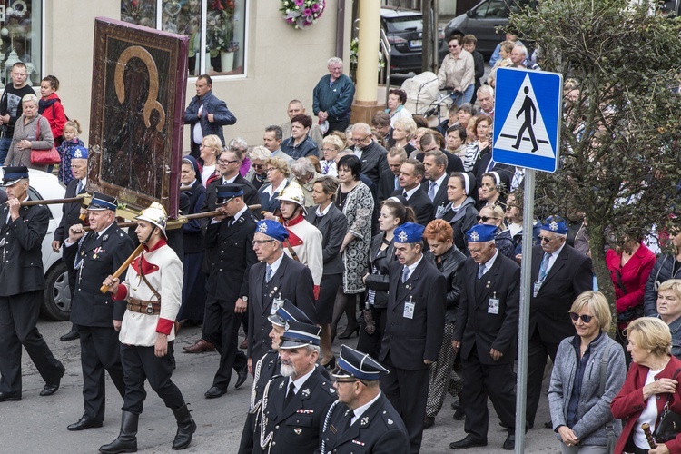
[(448, 90), (454, 104), (470, 103), (475, 89), (475, 61), (473, 55), (461, 46), (461, 37), (449, 37), (449, 54), (442, 60), (438, 71), (440, 90)]

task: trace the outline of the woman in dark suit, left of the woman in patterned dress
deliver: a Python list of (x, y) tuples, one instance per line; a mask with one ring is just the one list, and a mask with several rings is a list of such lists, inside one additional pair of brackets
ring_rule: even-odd
[(333, 203), (337, 190), (338, 180), (335, 177), (324, 175), (317, 178), (312, 185), (312, 200), (317, 205), (308, 209), (306, 216), (307, 221), (321, 232), (324, 273), (315, 309), (317, 321), (321, 325), (321, 365), (327, 369), (336, 367), (336, 357), (331, 350), (331, 318), (344, 270), (339, 251), (348, 230), (345, 214)]

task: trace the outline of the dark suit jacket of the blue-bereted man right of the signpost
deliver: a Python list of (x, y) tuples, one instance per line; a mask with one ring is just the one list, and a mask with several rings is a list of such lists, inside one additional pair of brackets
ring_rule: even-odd
[[(538, 281), (539, 267), (544, 259), (541, 246), (532, 248), (532, 284)], [(568, 315), (572, 302), (583, 291), (593, 290), (591, 259), (569, 244), (563, 246), (556, 262), (548, 271), (537, 296), (530, 291), (529, 337), (538, 330), (542, 341), (559, 343), (575, 335)]]

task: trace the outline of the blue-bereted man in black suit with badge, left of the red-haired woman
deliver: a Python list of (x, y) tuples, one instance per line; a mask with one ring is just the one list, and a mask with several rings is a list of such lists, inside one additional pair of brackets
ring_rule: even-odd
[(447, 291), (445, 277), (423, 260), (423, 230), (412, 222), (395, 229), (398, 260), (390, 265), (386, 331), (380, 348), (380, 361), (390, 370), (380, 378), (380, 389), (404, 420), (412, 454), (419, 452), (423, 436), (429, 365), (438, 360), (442, 344)]

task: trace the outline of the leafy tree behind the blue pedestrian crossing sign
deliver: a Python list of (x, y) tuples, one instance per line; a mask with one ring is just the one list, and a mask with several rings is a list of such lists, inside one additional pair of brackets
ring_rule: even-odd
[(542, 0), (509, 21), (540, 49), (543, 70), (580, 86), (577, 102), (565, 104), (561, 167), (538, 173), (538, 214), (586, 216), (597, 280), (613, 306), (605, 245), (665, 231), (681, 179), (681, 21), (630, 3)]

